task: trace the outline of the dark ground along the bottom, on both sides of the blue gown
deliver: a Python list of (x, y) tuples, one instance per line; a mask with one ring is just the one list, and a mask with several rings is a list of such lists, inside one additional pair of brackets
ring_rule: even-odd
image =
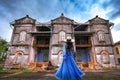
[[(56, 71), (0, 72), (0, 80), (57, 80)], [(120, 80), (120, 70), (85, 72), (83, 80)]]

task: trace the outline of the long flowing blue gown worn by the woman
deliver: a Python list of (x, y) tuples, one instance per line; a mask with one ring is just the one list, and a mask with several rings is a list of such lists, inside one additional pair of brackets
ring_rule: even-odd
[(66, 43), (63, 46), (63, 60), (55, 73), (55, 77), (60, 80), (82, 80), (84, 72), (82, 72), (77, 66), (73, 54), (73, 51), (66, 50)]

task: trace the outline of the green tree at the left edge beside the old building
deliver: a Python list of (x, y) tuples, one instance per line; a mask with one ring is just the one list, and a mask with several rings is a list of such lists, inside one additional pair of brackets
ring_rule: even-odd
[(8, 42), (0, 37), (0, 61), (5, 60), (7, 55)]

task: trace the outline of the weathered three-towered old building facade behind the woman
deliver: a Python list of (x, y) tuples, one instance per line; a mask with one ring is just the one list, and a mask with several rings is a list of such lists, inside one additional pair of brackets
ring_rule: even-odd
[(110, 32), (113, 23), (96, 16), (78, 23), (61, 14), (48, 23), (28, 15), (11, 23), (13, 34), (6, 68), (29, 68), (34, 63), (51, 62), (59, 66), (67, 36), (74, 39), (75, 60), (79, 67), (101, 69), (115, 67), (115, 49)]

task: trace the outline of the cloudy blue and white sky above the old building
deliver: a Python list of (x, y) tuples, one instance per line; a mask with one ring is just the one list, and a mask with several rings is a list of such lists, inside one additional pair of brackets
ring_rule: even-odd
[(38, 22), (48, 22), (64, 15), (84, 23), (96, 15), (114, 23), (114, 43), (120, 41), (120, 0), (0, 0), (0, 37), (11, 40), (10, 22), (26, 15)]

